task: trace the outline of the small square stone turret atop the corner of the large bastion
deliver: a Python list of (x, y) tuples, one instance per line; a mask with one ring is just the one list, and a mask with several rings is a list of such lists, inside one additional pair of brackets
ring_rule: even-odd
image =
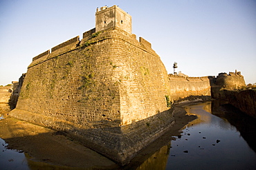
[(99, 32), (109, 28), (118, 27), (131, 34), (131, 15), (118, 6), (103, 6), (97, 8), (95, 13), (95, 31)]

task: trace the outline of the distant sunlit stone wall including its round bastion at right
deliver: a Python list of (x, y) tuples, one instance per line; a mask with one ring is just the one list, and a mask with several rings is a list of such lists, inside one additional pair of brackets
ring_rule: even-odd
[(241, 72), (220, 73), (218, 76), (189, 77), (169, 74), (172, 100), (189, 96), (223, 97), (221, 89), (243, 89), (246, 86)]

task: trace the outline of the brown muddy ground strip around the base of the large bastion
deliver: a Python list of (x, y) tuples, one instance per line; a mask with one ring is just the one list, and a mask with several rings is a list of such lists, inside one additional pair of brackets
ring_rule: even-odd
[(0, 138), (8, 143), (10, 149), (24, 151), (32, 169), (136, 169), (161, 147), (168, 145), (172, 136), (179, 136), (179, 129), (196, 118), (185, 114), (183, 109), (175, 107), (174, 127), (140, 151), (126, 167), (119, 167), (58, 131), (17, 120), (7, 114), (0, 120)]

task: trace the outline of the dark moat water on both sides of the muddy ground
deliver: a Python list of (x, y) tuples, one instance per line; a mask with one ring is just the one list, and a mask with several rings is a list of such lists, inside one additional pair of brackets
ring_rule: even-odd
[[(183, 108), (198, 118), (185, 125), (181, 135), (163, 142), (167, 145), (147, 156), (145, 161), (123, 169), (255, 169), (255, 120), (237, 114), (237, 109), (230, 105), (220, 107), (218, 101), (183, 105)], [(7, 149), (4, 140), (0, 142), (1, 169), (47, 167), (35, 162), (31, 165), (27, 154)], [(54, 169), (52, 165), (48, 166)]]

